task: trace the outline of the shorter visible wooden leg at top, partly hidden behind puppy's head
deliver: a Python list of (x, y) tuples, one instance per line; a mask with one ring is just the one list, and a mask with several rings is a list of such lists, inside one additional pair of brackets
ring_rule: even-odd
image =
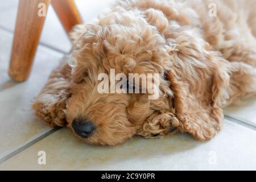
[(67, 34), (73, 26), (82, 23), (82, 18), (74, 0), (52, 0), (52, 6)]

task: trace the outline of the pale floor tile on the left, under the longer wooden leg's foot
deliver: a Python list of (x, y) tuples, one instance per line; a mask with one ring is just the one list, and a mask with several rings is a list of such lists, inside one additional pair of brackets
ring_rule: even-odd
[[(39, 47), (35, 65), (26, 82), (16, 83), (7, 75), (12, 35), (0, 30), (0, 159), (10, 152), (51, 130), (31, 110), (31, 101), (38, 94), (49, 72), (62, 54)], [(4, 46), (3, 46), (4, 45)]]

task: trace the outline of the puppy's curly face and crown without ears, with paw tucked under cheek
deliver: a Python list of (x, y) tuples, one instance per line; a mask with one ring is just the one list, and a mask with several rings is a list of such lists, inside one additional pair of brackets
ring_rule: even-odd
[(175, 119), (165, 39), (140, 15), (119, 15), (111, 24), (118, 20), (113, 16), (85, 26), (71, 53), (65, 115), (72, 131), (89, 143), (163, 135)]

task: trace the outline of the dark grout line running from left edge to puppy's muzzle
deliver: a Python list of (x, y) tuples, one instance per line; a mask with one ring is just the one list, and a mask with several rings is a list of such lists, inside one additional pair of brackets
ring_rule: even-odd
[(61, 129), (61, 127), (56, 128), (56, 129), (52, 129), (50, 131), (47, 131), (47, 133), (44, 133), (43, 135), (40, 135), (38, 138), (35, 138), (34, 140), (31, 140), (30, 142), (28, 142), (27, 144), (24, 144), (24, 146), (14, 150), (13, 152), (11, 152), (10, 154), (7, 154), (6, 156), (3, 156), (3, 158), (0, 159), (0, 164), (5, 162), (6, 160), (12, 158), (13, 156), (19, 154), (20, 152), (26, 150), (28, 147), (31, 147), (33, 144), (39, 142), (40, 140), (48, 137), (49, 135), (55, 133), (55, 131)]

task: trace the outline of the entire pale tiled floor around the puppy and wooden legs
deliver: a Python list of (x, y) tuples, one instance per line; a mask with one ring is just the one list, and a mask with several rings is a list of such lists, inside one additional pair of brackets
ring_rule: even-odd
[[(88, 22), (113, 1), (76, 2)], [(90, 146), (68, 129), (52, 130), (34, 116), (30, 105), (71, 44), (50, 7), (30, 79), (11, 81), (7, 68), (17, 3), (0, 5), (0, 169), (256, 169), (256, 97), (225, 109), (223, 129), (203, 143), (176, 134), (134, 137), (114, 147)], [(46, 152), (46, 165), (38, 164), (39, 151)]]

